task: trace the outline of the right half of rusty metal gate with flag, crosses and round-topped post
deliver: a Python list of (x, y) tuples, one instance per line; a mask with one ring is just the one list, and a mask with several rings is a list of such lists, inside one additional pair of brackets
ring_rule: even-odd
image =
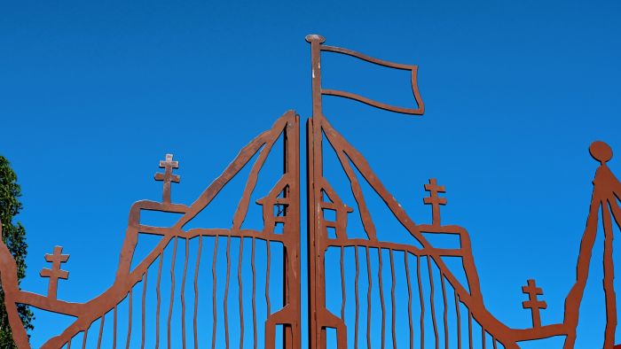
[[(353, 347), (358, 348), (361, 339), (364, 337), (366, 337), (366, 346), (369, 348), (383, 348), (386, 345), (397, 347), (396, 337), (398, 333), (395, 314), (399, 309), (396, 306), (398, 300), (396, 301), (395, 283), (405, 279), (407, 291), (402, 304), (407, 305), (407, 311), (402, 316), (406, 318), (405, 321), (408, 325), (406, 329), (409, 330), (405, 336), (409, 339), (405, 341), (407, 344), (405, 346), (424, 348), (426, 342), (431, 342), (436, 348), (440, 346), (460, 348), (462, 345), (464, 347), (465, 345), (469, 345), (468, 347), (480, 345), (484, 348), (491, 343), (493, 348), (498, 347), (499, 344), (506, 348), (516, 348), (523, 341), (566, 336), (564, 348), (573, 348), (578, 326), (578, 310), (585, 291), (595, 234), (598, 228), (598, 213), (601, 213), (604, 230), (603, 288), (606, 295), (607, 315), (604, 347), (612, 348), (614, 331), (617, 327), (616, 296), (613, 285), (612, 225), (613, 221), (617, 227), (621, 223), (621, 208), (619, 208), (617, 201), (618, 198), (621, 198), (621, 184), (606, 166), (606, 162), (612, 157), (609, 146), (605, 143), (595, 142), (590, 148), (593, 158), (601, 162), (601, 167), (597, 170), (593, 182), (593, 201), (578, 255), (577, 282), (565, 301), (563, 322), (541, 323), (539, 312), (540, 309), (545, 309), (547, 305), (545, 301), (538, 299), (538, 296), (543, 294), (541, 288), (535, 285), (534, 280), (529, 280), (528, 285), (523, 287), (523, 292), (529, 296), (529, 299), (523, 302), (523, 308), (531, 310), (532, 328), (509, 328), (484, 306), (468, 232), (459, 226), (442, 225), (441, 223), (440, 206), (446, 205), (447, 199), (440, 197), (438, 193), (446, 191), (444, 186), (438, 185), (435, 178), (429, 179), (428, 184), (424, 185), (429, 196), (424, 198), (423, 203), (432, 207), (431, 223), (414, 223), (402, 206), (381, 184), (377, 176), (373, 174), (366, 159), (331, 126), (323, 113), (322, 96), (330, 95), (347, 97), (391, 112), (421, 114), (424, 111), (424, 105), (416, 86), (417, 66), (390, 63), (352, 50), (326, 46), (324, 44), (325, 39), (320, 35), (308, 35), (306, 40), (311, 43), (312, 81), (312, 118), (307, 123), (310, 347), (337, 346), (342, 348), (348, 347), (353, 342)], [(320, 67), (321, 53), (324, 51), (349, 55), (381, 66), (411, 71), (416, 106), (404, 108), (385, 105), (367, 97), (322, 88)], [(324, 138), (327, 140), (327, 145), (323, 144)], [(355, 203), (343, 202), (330, 182), (324, 177), (323, 151), (325, 150), (335, 152), (344, 174), (350, 181), (351, 196), (355, 199)], [(356, 171), (361, 178), (358, 178)], [(361, 189), (360, 183), (362, 181), (367, 182), (380, 196), (389, 207), (390, 212), (397, 218), (397, 221), (407, 229), (420, 246), (382, 241), (378, 238), (378, 231)], [(335, 221), (326, 219), (326, 210), (336, 212)], [(366, 238), (348, 237), (347, 214), (355, 211), (358, 211), (360, 215)], [(328, 229), (330, 228), (335, 230), (334, 236), (329, 234)], [(428, 242), (423, 233), (460, 237), (460, 248), (435, 247)], [(338, 276), (341, 277), (342, 288), (340, 314), (328, 310), (326, 305), (326, 273), (328, 269), (334, 270), (334, 266), (331, 265), (329, 268), (326, 266), (326, 255), (334, 249), (341, 255), (339, 260), (341, 273)], [(355, 259), (355, 263), (350, 262), (348, 264), (353, 267), (350, 270), (343, 268), (343, 263), (345, 263), (343, 260), (346, 259), (343, 259), (342, 256), (347, 254), (343, 251), (347, 249), (353, 250), (354, 253), (352, 254)], [(360, 252), (363, 254), (362, 263), (358, 260)], [(403, 257), (396, 258), (397, 253), (403, 254)], [(382, 271), (386, 268), (386, 263), (382, 260), (386, 256), (389, 257), (389, 273)], [(444, 263), (443, 257), (460, 258), (466, 275), (465, 283), (460, 282), (459, 278), (453, 274), (452, 269)], [(366, 266), (364, 266), (365, 259)], [(415, 262), (415, 268), (411, 268), (413, 262)], [(375, 263), (377, 263), (377, 268), (373, 267)], [(402, 263), (403, 268), (399, 269), (405, 270), (405, 273), (397, 274), (397, 263)], [(358, 284), (361, 283), (361, 264), (366, 267), (367, 273), (365, 284), (367, 290), (366, 310), (361, 310), (362, 302), (360, 301), (360, 285)], [(421, 272), (421, 270), (424, 271)], [(412, 272), (416, 274), (415, 282), (411, 280)], [(352, 275), (355, 283), (353, 294), (345, 292), (345, 278), (349, 278), (350, 275)], [(391, 280), (385, 280), (386, 275), (391, 276)], [(384, 283), (387, 282), (390, 283), (389, 296), (384, 292)], [(331, 283), (334, 283), (334, 279), (331, 280)], [(330, 286), (330, 292), (334, 292), (334, 286), (334, 284)], [(413, 288), (417, 291), (413, 291)], [(416, 293), (418, 293), (418, 297), (414, 296)], [(376, 298), (372, 299), (372, 297)], [(346, 302), (351, 298), (354, 299), (355, 310), (353, 311), (354, 314), (348, 317), (343, 309)], [(418, 301), (414, 301), (416, 298)], [(449, 299), (452, 300), (449, 301)], [(437, 304), (438, 302), (440, 304)], [(449, 310), (451, 307), (452, 309)], [(420, 314), (418, 323), (414, 319), (413, 308)], [(455, 316), (449, 316), (449, 311)], [(386, 317), (387, 312), (391, 314), (389, 320)], [(362, 333), (362, 330), (359, 329), (360, 318), (365, 317), (365, 315), (366, 333)], [(373, 327), (372, 317), (377, 320), (377, 322), (373, 322), (375, 326), (373, 330), (371, 330)], [(404, 321), (403, 317), (401, 321)], [(462, 333), (463, 322), (468, 322), (468, 333)], [(476, 333), (475, 324), (480, 329)], [(353, 331), (348, 330), (349, 326), (354, 326), (355, 329)], [(335, 342), (326, 343), (327, 330), (335, 330)], [(391, 334), (390, 341), (387, 338), (388, 333)], [(348, 337), (350, 334), (353, 334), (353, 337)], [(468, 344), (464, 344), (464, 340)], [(404, 344), (399, 343), (399, 346), (404, 346)]]

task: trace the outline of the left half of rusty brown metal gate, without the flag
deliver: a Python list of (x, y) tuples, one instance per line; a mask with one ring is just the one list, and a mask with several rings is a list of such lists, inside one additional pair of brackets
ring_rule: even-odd
[[(263, 229), (245, 229), (242, 223), (248, 213), (257, 176), (279, 138), (282, 138), (284, 144), (283, 173), (273, 182), (272, 189), (256, 201), (256, 204), (263, 206)], [(75, 321), (58, 336), (46, 341), (43, 348), (69, 348), (71, 345), (145, 347), (145, 344), (146, 347), (156, 348), (229, 347), (232, 346), (230, 332), (233, 328), (239, 336), (235, 342), (240, 347), (273, 347), (277, 328), (282, 328), (285, 347), (299, 347), (301, 280), (298, 157), (299, 117), (295, 112), (287, 112), (271, 129), (248, 143), (224, 173), (192, 205), (185, 206), (170, 201), (170, 182), (179, 182), (179, 177), (173, 174), (178, 162), (173, 160), (171, 154), (167, 155), (160, 162), (164, 172), (155, 174), (156, 180), (163, 181), (162, 201), (144, 200), (131, 206), (114, 284), (86, 303), (57, 299), (58, 280), (68, 276), (66, 271), (60, 269), (61, 263), (68, 259), (68, 255), (62, 254), (62, 247), (56, 247), (53, 254), (45, 257), (52, 265), (50, 269), (45, 268), (41, 272), (43, 277), (50, 278), (48, 295), (42, 296), (19, 290), (13, 276), (16, 275), (15, 262), (6, 246), (0, 244), (4, 300), (16, 344), (20, 348), (29, 347), (27, 333), (17, 313), (18, 304), (28, 304), (45, 311), (75, 316)], [(253, 158), (254, 163), (251, 162)], [(209, 206), (227, 182), (246, 166), (250, 167), (250, 174), (234, 213), (232, 227), (185, 229), (198, 213)], [(146, 211), (178, 213), (181, 216), (169, 227), (156, 227), (141, 222), (141, 213)], [(161, 239), (144, 259), (136, 260), (138, 238), (142, 235)], [(208, 244), (209, 247), (205, 247)], [(275, 263), (271, 260), (274, 249), (279, 249), (276, 254), (282, 258)], [(255, 250), (261, 251), (261, 254)], [(205, 255), (207, 252), (212, 253)], [(192, 263), (189, 261), (191, 254)], [(132, 260), (138, 262), (133, 267)], [(260, 260), (263, 261), (263, 269), (259, 272), (255, 268), (255, 261)], [(201, 268), (206, 263), (211, 268)], [(282, 270), (271, 270), (272, 264), (280, 266)], [(180, 265), (183, 268), (179, 268)], [(188, 273), (188, 266), (193, 268), (192, 273)], [(242, 272), (242, 268), (248, 267), (251, 271)], [(271, 274), (278, 272), (282, 279), (277, 284), (282, 287), (280, 294), (283, 299), (271, 299), (270, 286), (274, 281)], [(210, 281), (211, 287), (207, 290), (202, 282), (203, 274), (207, 274), (205, 277)], [(261, 278), (263, 280), (259, 280)], [(161, 287), (164, 281), (166, 285)], [(232, 283), (237, 283), (237, 314), (229, 314), (229, 289)], [(261, 284), (261, 289), (257, 284)], [(235, 301), (232, 299), (232, 302)], [(263, 314), (257, 311), (259, 302), (263, 302), (266, 307)], [(282, 306), (277, 307), (276, 303)], [(246, 310), (244, 306), (247, 306)], [(167, 311), (161, 309), (164, 307), (167, 307)], [(179, 310), (180, 314), (177, 314)], [(201, 314), (205, 312), (209, 314)], [(248, 319), (249, 314), (252, 321)], [(247, 316), (246, 320), (244, 315)], [(200, 321), (208, 320), (210, 329), (200, 323), (199, 318)], [(251, 324), (251, 327), (245, 328), (245, 323)], [(223, 327), (224, 337), (220, 336), (216, 340), (216, 329)], [(211, 338), (201, 342), (200, 335), (206, 330), (211, 333)], [(246, 346), (245, 337), (250, 342), (247, 341)]]

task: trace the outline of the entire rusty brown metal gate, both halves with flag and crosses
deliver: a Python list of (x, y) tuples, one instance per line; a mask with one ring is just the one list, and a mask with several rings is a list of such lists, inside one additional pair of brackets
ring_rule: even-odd
[[(143, 200), (131, 206), (114, 284), (90, 301), (71, 303), (57, 298), (59, 279), (68, 277), (61, 269), (62, 263), (68, 259), (68, 255), (62, 254), (62, 247), (57, 246), (45, 257), (51, 262), (51, 268), (44, 268), (41, 272), (41, 276), (49, 278), (48, 294), (43, 296), (20, 290), (15, 261), (7, 247), (0, 244), (4, 305), (16, 345), (30, 347), (28, 334), (17, 312), (17, 306), (24, 304), (75, 317), (65, 330), (49, 338), (43, 348), (70, 348), (72, 345), (216, 348), (239, 345), (240, 348), (398, 346), (495, 349), (517, 348), (523, 341), (564, 336), (564, 348), (569, 349), (576, 343), (578, 311), (592, 263), (595, 236), (601, 224), (605, 235), (603, 289), (607, 324), (603, 333), (604, 347), (612, 348), (617, 327), (612, 232), (614, 224), (621, 226), (618, 205), (621, 183), (607, 166), (612, 157), (609, 146), (595, 142), (590, 148), (593, 158), (600, 161), (601, 166), (593, 181), (593, 198), (579, 246), (576, 283), (565, 299), (563, 322), (541, 323), (539, 312), (546, 308), (546, 302), (541, 299), (543, 291), (534, 280), (528, 280), (523, 287), (527, 297), (523, 307), (531, 311), (532, 327), (509, 328), (484, 305), (468, 232), (441, 222), (440, 206), (446, 204), (446, 198), (441, 194), (444, 187), (435, 178), (425, 184), (429, 196), (424, 204), (431, 206), (432, 221), (430, 224), (415, 223), (373, 174), (362, 154), (330, 125), (323, 113), (322, 96), (331, 95), (391, 112), (420, 115), (424, 112), (424, 105), (416, 81), (417, 66), (394, 64), (352, 50), (327, 46), (319, 35), (309, 35), (306, 39), (311, 43), (312, 75), (312, 117), (307, 123), (306, 144), (308, 283), (301, 278), (300, 260), (300, 120), (295, 112), (289, 111), (248, 143), (192, 205), (171, 202), (170, 183), (179, 182), (180, 178), (174, 174), (178, 162), (168, 154), (160, 163), (164, 172), (155, 175), (156, 180), (163, 182), (161, 202)], [(409, 71), (415, 106), (385, 105), (350, 92), (323, 89), (322, 51)], [(283, 171), (273, 179), (271, 190), (255, 201), (263, 209), (263, 229), (244, 228), (259, 172), (279, 139), (284, 144)], [(324, 151), (330, 148), (349, 179), (350, 194), (355, 202), (343, 202), (342, 196), (324, 177)], [(249, 174), (232, 226), (229, 229), (186, 228), (243, 167), (249, 167)], [(362, 190), (363, 182), (381, 198), (416, 244), (378, 238)], [(141, 213), (145, 211), (178, 213), (180, 218), (170, 227), (155, 227), (141, 222)], [(362, 221), (364, 238), (348, 236), (348, 215), (354, 212)], [(601, 222), (598, 221), (600, 213)], [(428, 234), (459, 237), (460, 246), (434, 246), (425, 237)], [(161, 239), (142, 260), (137, 260), (135, 252), (141, 235)], [(191, 244), (198, 245), (195, 253)], [(211, 254), (206, 255), (203, 244), (210, 244), (208, 251)], [(183, 258), (177, 258), (177, 252), (182, 253)], [(223, 253), (225, 265), (218, 267), (217, 260)], [(191, 258), (191, 254), (195, 255)], [(336, 268), (334, 264), (327, 265), (328, 254), (337, 256)], [(274, 260), (276, 258), (278, 260)], [(454, 268), (446, 264), (447, 259), (460, 260), (466, 283), (460, 282)], [(201, 267), (204, 260), (211, 260), (211, 268)], [(183, 264), (183, 268), (176, 263)], [(281, 270), (274, 270), (271, 267), (274, 263)], [(340, 283), (326, 284), (326, 277), (332, 278), (329, 274), (334, 271)], [(275, 274), (278, 276), (274, 284)], [(208, 285), (202, 282), (205, 278)], [(163, 279), (167, 279), (167, 290), (161, 287)], [(233, 283), (236, 283), (235, 292), (230, 291)], [(303, 283), (308, 284), (309, 296), (308, 345), (302, 343), (305, 330), (301, 327)], [(385, 290), (387, 284), (390, 291)], [(401, 291), (396, 291), (397, 284)], [(271, 299), (270, 287), (281, 287), (282, 299)], [(328, 297), (339, 299), (340, 309), (328, 309)], [(129, 306), (121, 308), (123, 302)], [(259, 309), (259, 303), (264, 305), (263, 309)], [(231, 304), (235, 304), (237, 311), (234, 313)], [(166, 311), (162, 311), (164, 308)]]

